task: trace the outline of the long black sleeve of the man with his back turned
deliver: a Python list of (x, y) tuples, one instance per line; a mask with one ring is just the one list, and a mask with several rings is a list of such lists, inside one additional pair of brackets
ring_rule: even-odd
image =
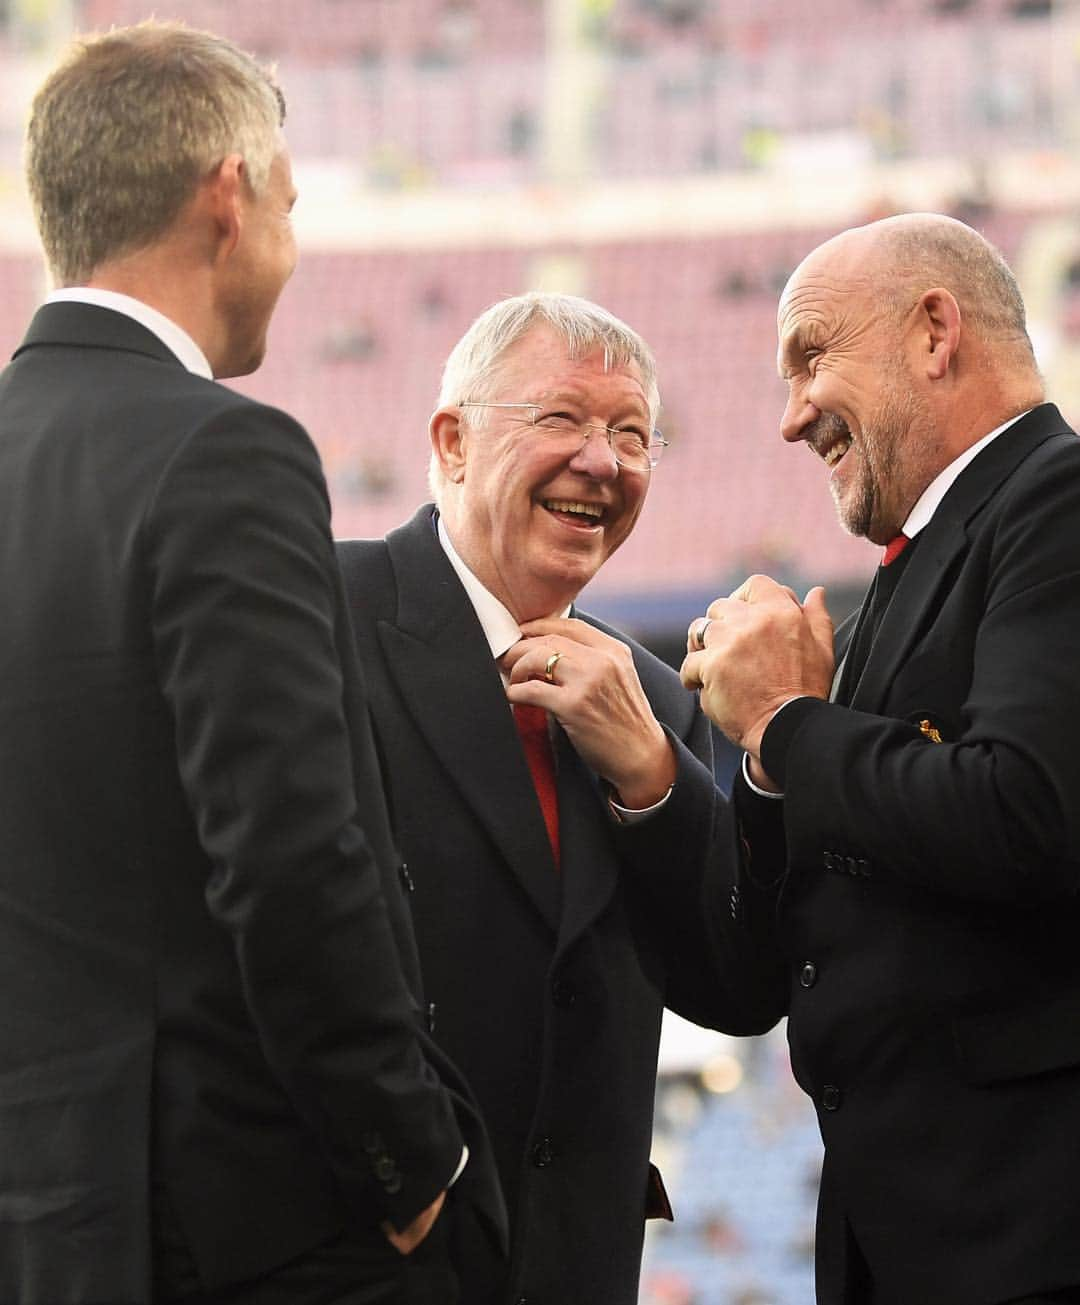
[(143, 531), (210, 915), (232, 938), (262, 1052), (343, 1193), (403, 1227), (446, 1185), (462, 1138), (419, 1049), (355, 820), (318, 455), (284, 414), (232, 408), (180, 448)]

